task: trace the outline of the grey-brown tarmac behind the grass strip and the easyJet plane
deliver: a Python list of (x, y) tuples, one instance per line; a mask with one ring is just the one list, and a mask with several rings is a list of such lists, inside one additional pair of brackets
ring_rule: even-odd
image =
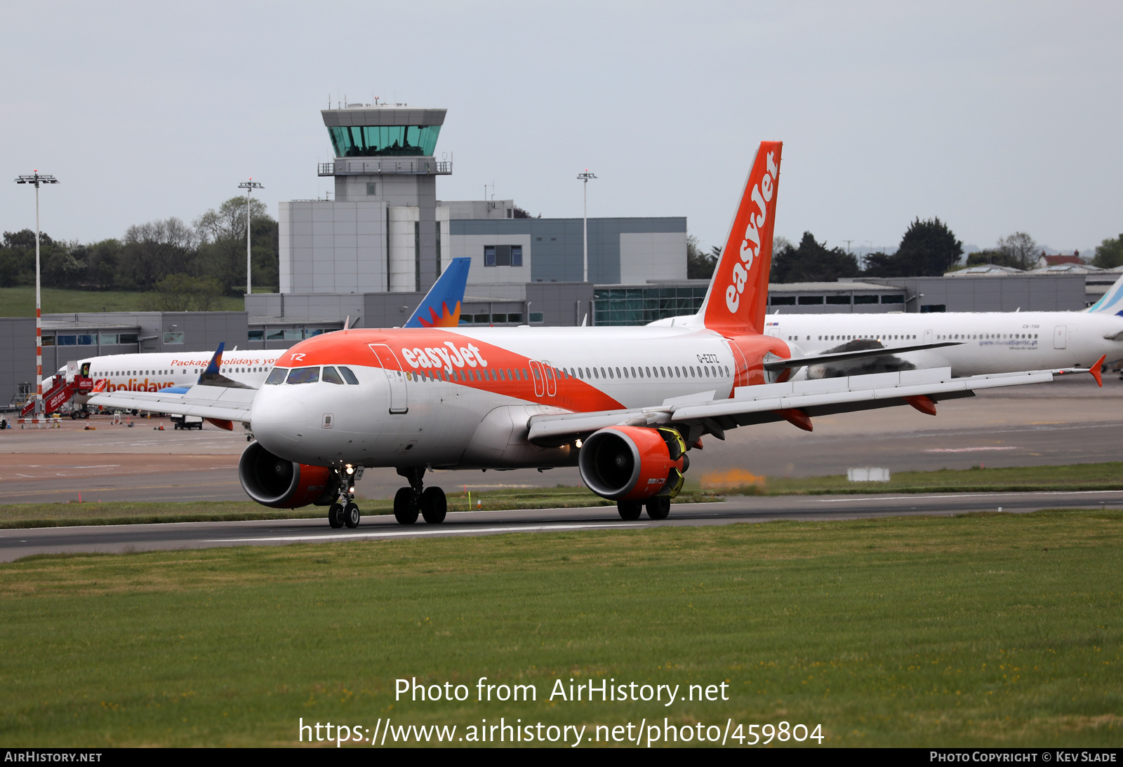
[[(816, 418), (814, 432), (764, 424), (707, 436), (691, 452), (688, 479), (721, 487), (730, 471), (758, 477), (844, 474), (850, 466), (891, 471), (1032, 466), (1120, 460), (1123, 382), (1090, 376), (1061, 378), (941, 403), (935, 417), (910, 407)], [(0, 433), (0, 503), (76, 501), (245, 500), (238, 456), (240, 428), (157, 431), (168, 422), (135, 418), (133, 428), (108, 418), (66, 421), (57, 429)], [(438, 471), (427, 482), (474, 493), (510, 487), (581, 484), (575, 468), (545, 472)], [(393, 469), (369, 469), (359, 496), (392, 498), (402, 486)]]

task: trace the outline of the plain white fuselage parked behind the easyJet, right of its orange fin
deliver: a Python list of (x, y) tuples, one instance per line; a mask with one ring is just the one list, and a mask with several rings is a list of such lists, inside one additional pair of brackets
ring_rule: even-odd
[[(765, 332), (809, 354), (856, 340), (885, 346), (951, 342), (900, 354), (916, 368), (950, 367), (955, 376), (1088, 366), (1123, 358), (1123, 317), (1087, 312), (964, 312), (950, 314), (770, 314)], [(811, 369), (812, 377), (816, 370)]]

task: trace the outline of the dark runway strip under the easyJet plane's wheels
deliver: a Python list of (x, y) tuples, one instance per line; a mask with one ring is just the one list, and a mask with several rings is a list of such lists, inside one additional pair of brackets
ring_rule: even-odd
[(683, 503), (670, 517), (623, 521), (614, 507), (524, 511), (453, 511), (441, 525), (399, 525), (366, 517), (355, 529), (334, 530), (326, 519), (172, 523), (0, 530), (0, 562), (33, 554), (125, 553), (216, 546), (280, 546), (464, 535), (541, 534), (573, 530), (731, 525), (775, 519), (860, 519), (969, 511), (1026, 512), (1044, 508), (1119, 508), (1123, 490), (1072, 492), (971, 492), (917, 496), (731, 497), (720, 503)]

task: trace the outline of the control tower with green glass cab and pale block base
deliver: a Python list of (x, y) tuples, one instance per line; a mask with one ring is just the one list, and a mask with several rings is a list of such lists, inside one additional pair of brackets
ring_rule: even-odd
[(335, 177), (335, 200), (281, 203), (281, 293), (432, 286), (442, 229), (448, 242), (437, 176), (453, 168), (433, 157), (446, 111), (404, 104), (321, 111), (335, 160), (321, 163), (319, 175)]

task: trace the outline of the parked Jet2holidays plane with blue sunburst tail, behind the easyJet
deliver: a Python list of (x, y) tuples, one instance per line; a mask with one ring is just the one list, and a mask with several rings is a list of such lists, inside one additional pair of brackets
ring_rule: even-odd
[[(460, 322), (460, 305), (471, 266), (471, 258), (449, 261), (403, 327), (456, 327)], [(80, 360), (73, 370), (77, 371), (77, 376), (93, 379), (97, 391), (183, 394), (183, 387), (190, 387), (195, 381), (209, 386), (258, 389), (277, 358), (285, 353), (283, 349), (234, 351), (226, 352), (223, 360), (222, 349), (220, 345), (218, 353), (211, 358), (204, 352), (104, 354)], [(61, 368), (54, 377), (44, 381), (43, 390), (49, 391), (66, 376), (67, 368)], [(197, 376), (207, 378), (197, 379)], [(75, 395), (74, 401), (84, 405), (86, 397)]]

